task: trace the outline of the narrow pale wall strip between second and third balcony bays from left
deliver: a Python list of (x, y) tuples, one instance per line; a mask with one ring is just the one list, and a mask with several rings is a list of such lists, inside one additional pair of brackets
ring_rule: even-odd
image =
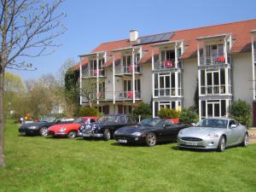
[(142, 100), (148, 104), (151, 102), (152, 98), (152, 72), (151, 63), (143, 63), (141, 65), (142, 76), (141, 76), (141, 90), (142, 90)]

